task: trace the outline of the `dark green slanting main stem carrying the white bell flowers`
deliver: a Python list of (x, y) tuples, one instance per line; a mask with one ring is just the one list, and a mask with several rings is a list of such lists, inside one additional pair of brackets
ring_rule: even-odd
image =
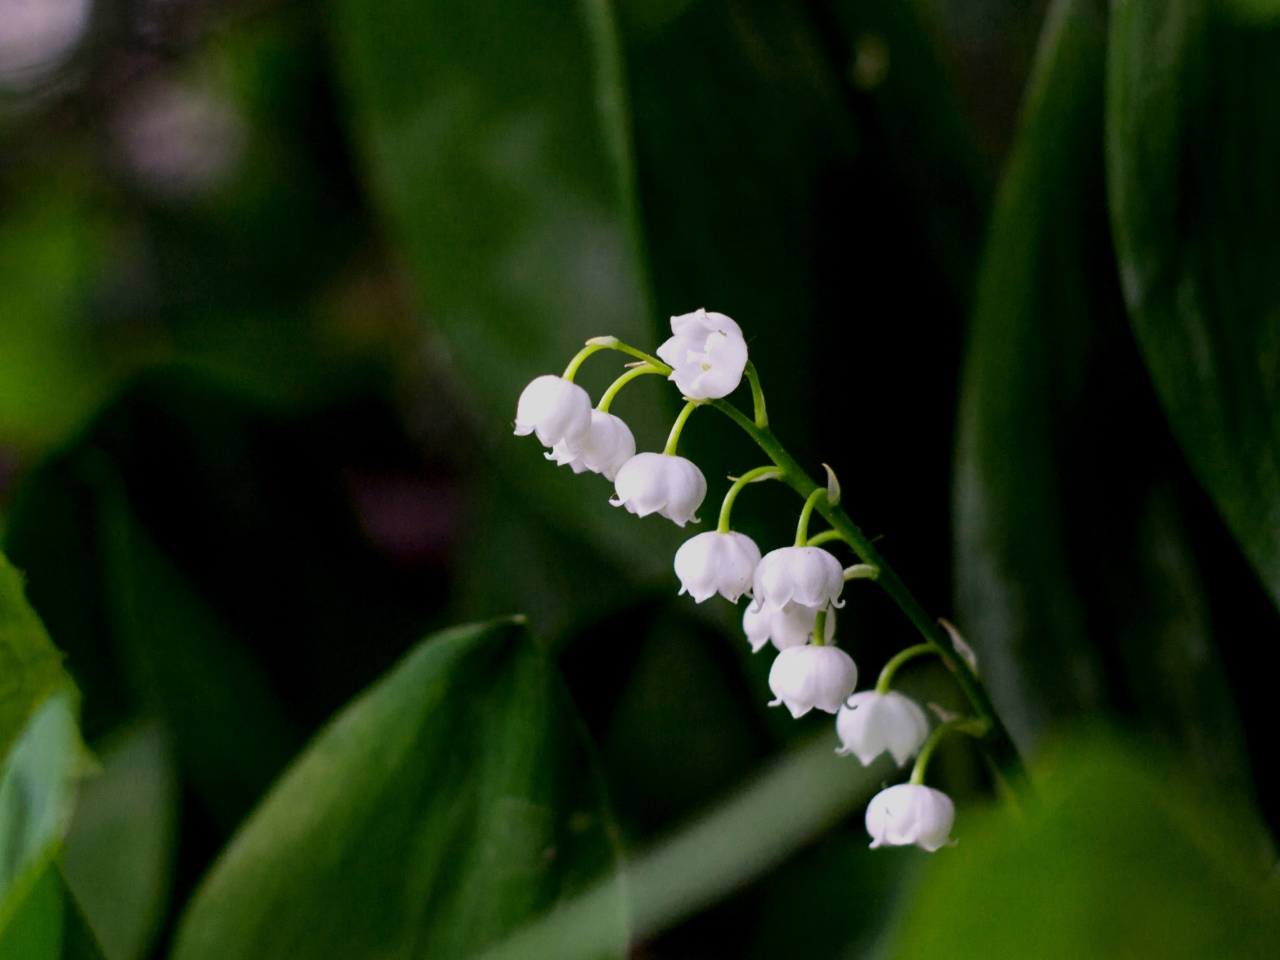
[[(778, 443), (778, 439), (768, 428), (756, 426), (750, 417), (727, 401), (718, 399), (712, 401), (712, 403), (730, 420), (742, 428), (748, 436), (755, 440), (759, 448), (764, 451), (769, 460), (772, 460), (782, 471), (783, 483), (786, 483), (792, 490), (808, 499), (817, 490), (824, 489), (818, 486), (818, 484), (815, 484), (813, 479), (804, 470), (801, 470), (800, 465), (796, 463), (795, 458), (787, 453), (786, 448), (781, 443)], [(955, 645), (951, 643), (950, 634), (947, 634), (942, 625), (925, 612), (920, 602), (908, 589), (906, 584), (902, 582), (897, 572), (886, 562), (879, 550), (876, 549), (876, 545), (870, 541), (870, 539), (858, 529), (858, 525), (854, 524), (852, 520), (850, 520), (844, 507), (815, 503), (814, 508), (828, 524), (831, 524), (831, 526), (838, 532), (840, 539), (847, 543), (864, 563), (879, 567), (881, 573), (877, 582), (884, 589), (884, 593), (890, 595), (890, 599), (892, 599), (893, 603), (896, 603), (906, 614), (908, 620), (915, 625), (915, 628), (920, 631), (925, 641), (937, 650), (938, 657), (942, 658), (942, 662), (947, 666), (947, 669), (951, 671), (951, 675), (956, 678), (960, 689), (973, 705), (974, 713), (977, 713), (982, 719), (989, 722), (987, 732), (982, 736), (982, 745), (987, 755), (991, 758), (992, 764), (997, 771), (1000, 771), (1001, 776), (1011, 787), (1027, 787), (1027, 767), (1023, 764), (1023, 758), (1018, 753), (1018, 746), (1014, 744), (1012, 737), (1009, 736), (1009, 730), (1000, 719), (1000, 714), (996, 713), (995, 704), (991, 701), (991, 695), (987, 692), (987, 687), (984, 687), (982, 681), (978, 680), (973, 668), (969, 667), (968, 660), (965, 660), (965, 658), (956, 650)]]

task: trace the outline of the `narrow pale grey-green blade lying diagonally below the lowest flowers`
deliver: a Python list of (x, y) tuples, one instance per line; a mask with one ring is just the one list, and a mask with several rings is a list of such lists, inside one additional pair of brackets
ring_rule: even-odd
[[(632, 936), (653, 937), (777, 868), (870, 799), (891, 764), (837, 756), (822, 736), (627, 864)], [(608, 884), (541, 916), (484, 960), (591, 960), (612, 942)]]

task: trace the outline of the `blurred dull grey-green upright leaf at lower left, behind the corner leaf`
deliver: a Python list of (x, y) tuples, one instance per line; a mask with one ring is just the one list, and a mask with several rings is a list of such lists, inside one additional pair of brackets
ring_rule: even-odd
[(140, 960), (169, 896), (178, 771), (156, 722), (109, 737), (99, 765), (81, 786), (63, 874), (106, 960)]

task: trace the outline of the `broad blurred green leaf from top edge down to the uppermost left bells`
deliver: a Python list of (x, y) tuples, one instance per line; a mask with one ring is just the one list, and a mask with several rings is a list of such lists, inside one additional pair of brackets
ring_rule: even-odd
[(340, 0), (334, 37), (375, 200), (488, 428), (589, 337), (653, 346), (605, 0)]

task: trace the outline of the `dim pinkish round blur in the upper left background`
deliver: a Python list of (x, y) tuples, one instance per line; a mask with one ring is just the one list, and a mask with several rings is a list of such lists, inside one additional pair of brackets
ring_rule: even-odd
[[(0, 0), (3, 3), (4, 0)], [(206, 90), (157, 81), (114, 118), (116, 150), (145, 189), (182, 200), (223, 184), (244, 154), (247, 129), (234, 104)]]

